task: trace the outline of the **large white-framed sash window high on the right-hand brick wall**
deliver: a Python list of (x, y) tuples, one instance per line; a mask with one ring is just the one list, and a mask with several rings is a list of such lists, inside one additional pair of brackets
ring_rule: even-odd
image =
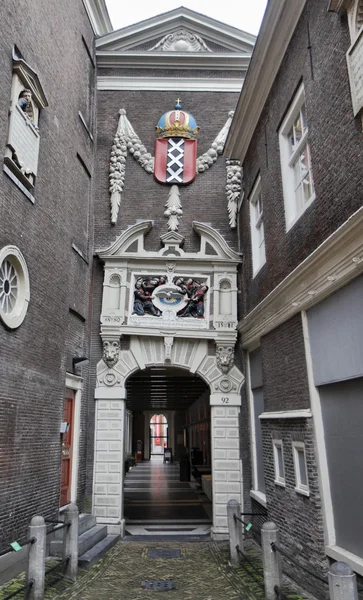
[[(285, 204), (286, 231), (291, 229), (291, 227), (296, 223), (296, 221), (298, 221), (301, 215), (315, 200), (315, 189), (310, 158), (310, 146), (308, 142), (308, 126), (305, 127), (303, 135), (300, 141), (296, 144), (295, 148), (291, 149), (291, 145), (289, 142), (289, 134), (291, 132), (291, 128), (304, 105), (305, 92), (304, 86), (301, 85), (279, 130), (280, 160)], [(309, 184), (311, 186), (312, 192), (308, 200), (300, 202), (297, 198), (296, 191), (298, 187), (300, 187), (300, 185), (303, 185), (303, 179), (299, 179), (299, 185), (297, 186), (295, 181), (295, 167), (304, 148), (308, 149), (309, 158), (307, 174), (309, 177)]]

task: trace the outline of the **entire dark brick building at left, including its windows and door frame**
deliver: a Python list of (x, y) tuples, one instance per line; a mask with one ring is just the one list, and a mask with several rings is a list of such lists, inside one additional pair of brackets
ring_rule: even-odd
[[(89, 357), (96, 134), (91, 4), (0, 7), (2, 548), (26, 535), (34, 514), (57, 517), (62, 451), (70, 452), (73, 473), (61, 504), (71, 499), (82, 506), (85, 499), (88, 366), (72, 359)], [(101, 34), (111, 24), (104, 3), (99, 7), (94, 24)], [(24, 88), (32, 93), (29, 117), (19, 110)], [(60, 434), (66, 387), (75, 411), (70, 450)]]

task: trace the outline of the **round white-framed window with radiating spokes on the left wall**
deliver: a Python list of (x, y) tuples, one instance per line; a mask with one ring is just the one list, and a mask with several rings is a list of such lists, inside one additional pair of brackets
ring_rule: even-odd
[(23, 322), (29, 303), (29, 274), (16, 246), (0, 250), (0, 318), (10, 329)]

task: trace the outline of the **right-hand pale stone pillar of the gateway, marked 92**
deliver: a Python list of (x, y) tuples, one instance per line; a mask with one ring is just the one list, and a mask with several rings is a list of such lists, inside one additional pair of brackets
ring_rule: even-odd
[(212, 485), (214, 538), (228, 539), (227, 502), (242, 502), (242, 464), (239, 423), (241, 397), (238, 394), (212, 394)]

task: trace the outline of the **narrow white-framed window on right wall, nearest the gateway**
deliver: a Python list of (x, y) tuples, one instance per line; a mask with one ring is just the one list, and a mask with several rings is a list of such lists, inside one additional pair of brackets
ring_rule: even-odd
[[(253, 277), (266, 263), (265, 229), (261, 197), (261, 177), (258, 176), (250, 198), (250, 227)], [(262, 209), (261, 209), (262, 208)]]

